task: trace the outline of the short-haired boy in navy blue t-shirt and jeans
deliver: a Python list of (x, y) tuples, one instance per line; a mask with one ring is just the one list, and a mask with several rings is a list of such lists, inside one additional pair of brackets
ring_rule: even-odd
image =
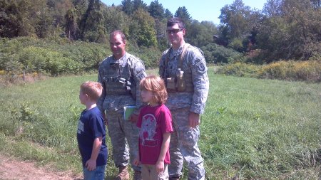
[(87, 81), (81, 84), (79, 100), (86, 109), (78, 121), (77, 141), (83, 162), (85, 180), (101, 180), (105, 177), (108, 158), (106, 128), (96, 102), (101, 96), (101, 83)]

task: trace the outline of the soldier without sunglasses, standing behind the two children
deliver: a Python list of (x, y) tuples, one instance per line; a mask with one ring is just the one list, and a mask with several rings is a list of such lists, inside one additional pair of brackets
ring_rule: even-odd
[[(129, 179), (129, 159), (132, 159), (134, 179), (141, 179), (141, 167), (133, 165), (133, 160), (138, 154), (139, 130), (136, 121), (142, 105), (138, 87), (141, 79), (146, 77), (145, 68), (139, 58), (126, 52), (126, 37), (122, 31), (113, 31), (109, 43), (113, 55), (99, 66), (98, 82), (103, 85), (103, 93), (97, 105), (102, 112), (106, 112), (113, 159), (119, 169), (116, 179)], [(124, 120), (123, 107), (129, 105), (136, 108), (131, 117)]]

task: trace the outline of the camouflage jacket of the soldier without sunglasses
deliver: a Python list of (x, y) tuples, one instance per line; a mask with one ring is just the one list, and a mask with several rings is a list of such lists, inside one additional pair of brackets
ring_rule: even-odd
[[(103, 93), (97, 102), (100, 110), (118, 111), (124, 106), (136, 105), (135, 114), (143, 105), (139, 83), (146, 77), (145, 67), (141, 59), (126, 53), (119, 60), (113, 55), (104, 59), (98, 70), (98, 82), (103, 85)], [(130, 88), (130, 92), (124, 93), (124, 86), (120, 82), (123, 79), (124, 86)]]

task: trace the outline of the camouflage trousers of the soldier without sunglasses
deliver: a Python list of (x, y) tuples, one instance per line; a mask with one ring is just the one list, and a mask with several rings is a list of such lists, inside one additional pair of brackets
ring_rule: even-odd
[(141, 166), (133, 165), (133, 160), (138, 155), (139, 129), (136, 123), (124, 120), (122, 111), (107, 111), (106, 117), (115, 166), (127, 166), (131, 159), (133, 170), (141, 171)]

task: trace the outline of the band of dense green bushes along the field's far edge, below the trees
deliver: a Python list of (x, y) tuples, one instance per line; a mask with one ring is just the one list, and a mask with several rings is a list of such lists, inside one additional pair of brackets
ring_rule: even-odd
[[(158, 66), (161, 51), (157, 48), (139, 48), (131, 42), (127, 43), (127, 47), (129, 53), (143, 60), (146, 68)], [(216, 68), (217, 73), (281, 80), (321, 80), (321, 60), (317, 56), (307, 61), (289, 60), (253, 65), (241, 62), (253, 62), (253, 57), (257, 57), (254, 54), (247, 55), (247, 60), (242, 53), (213, 43), (202, 50), (207, 63), (228, 63)], [(66, 38), (1, 38), (0, 72), (11, 78), (19, 77), (23, 72), (39, 75), (88, 73), (97, 70), (101, 60), (108, 55), (111, 52), (106, 44), (72, 42)]]

